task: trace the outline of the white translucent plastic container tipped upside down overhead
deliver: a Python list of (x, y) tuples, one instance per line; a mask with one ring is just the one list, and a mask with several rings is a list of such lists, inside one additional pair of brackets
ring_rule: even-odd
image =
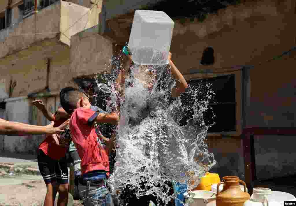
[(165, 12), (136, 10), (128, 42), (133, 62), (141, 65), (168, 64), (174, 24)]

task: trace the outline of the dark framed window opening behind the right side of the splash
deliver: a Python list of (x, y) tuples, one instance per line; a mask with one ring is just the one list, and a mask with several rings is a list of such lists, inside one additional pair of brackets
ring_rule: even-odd
[[(208, 132), (226, 132), (236, 130), (236, 101), (235, 101), (235, 76), (225, 75), (216, 78), (198, 79), (189, 81), (189, 85), (200, 88), (198, 98), (203, 99), (207, 93), (206, 87), (201, 84), (210, 83), (210, 88), (215, 93), (209, 103), (208, 110), (203, 113), (206, 125), (215, 124), (208, 129)], [(188, 94), (181, 95), (182, 104), (192, 107), (193, 99)], [(215, 118), (213, 118), (215, 114)], [(181, 125), (186, 125), (188, 119), (192, 118), (193, 111), (185, 111)]]

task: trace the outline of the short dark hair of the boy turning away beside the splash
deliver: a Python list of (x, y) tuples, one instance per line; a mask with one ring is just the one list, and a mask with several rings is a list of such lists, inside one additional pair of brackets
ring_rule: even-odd
[(60, 92), (60, 101), (63, 109), (68, 113), (72, 114), (77, 109), (77, 102), (81, 97), (86, 97), (86, 94), (82, 89), (74, 87), (63, 88)]

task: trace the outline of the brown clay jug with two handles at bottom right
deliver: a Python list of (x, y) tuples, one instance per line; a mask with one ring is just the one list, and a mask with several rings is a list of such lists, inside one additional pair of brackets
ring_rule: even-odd
[[(244, 192), (239, 183), (244, 185)], [(219, 186), (223, 184), (223, 189), (219, 192)], [(237, 176), (223, 177), (223, 181), (217, 185), (216, 205), (217, 206), (243, 206), (244, 202), (250, 199), (247, 192), (247, 186), (244, 181)]]

